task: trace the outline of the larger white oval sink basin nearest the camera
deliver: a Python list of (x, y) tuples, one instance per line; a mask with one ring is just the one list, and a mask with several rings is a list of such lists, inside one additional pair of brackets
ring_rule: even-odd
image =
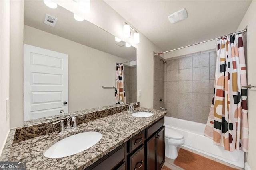
[(102, 138), (99, 132), (83, 132), (66, 137), (44, 152), (47, 158), (62, 158), (82, 152), (95, 145)]

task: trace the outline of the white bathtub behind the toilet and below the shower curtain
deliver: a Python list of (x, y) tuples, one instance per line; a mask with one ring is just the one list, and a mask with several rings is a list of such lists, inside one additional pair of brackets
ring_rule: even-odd
[(244, 152), (229, 152), (214, 145), (212, 139), (204, 136), (205, 124), (165, 116), (164, 125), (165, 128), (173, 129), (184, 136), (184, 147), (244, 168)]

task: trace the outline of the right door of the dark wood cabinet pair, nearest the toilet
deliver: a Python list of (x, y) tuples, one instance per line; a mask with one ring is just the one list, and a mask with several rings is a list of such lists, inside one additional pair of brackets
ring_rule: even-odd
[(165, 161), (164, 127), (157, 134), (157, 162), (158, 170), (162, 168)]

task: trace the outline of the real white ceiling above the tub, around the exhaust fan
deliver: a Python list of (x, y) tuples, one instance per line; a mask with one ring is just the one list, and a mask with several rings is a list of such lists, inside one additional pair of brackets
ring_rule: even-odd
[[(155, 45), (168, 51), (235, 32), (252, 0), (105, 0)], [(186, 8), (188, 18), (168, 16)]]

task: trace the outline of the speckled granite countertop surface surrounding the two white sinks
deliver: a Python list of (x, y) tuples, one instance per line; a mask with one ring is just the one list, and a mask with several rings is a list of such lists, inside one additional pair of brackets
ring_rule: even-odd
[[(27, 169), (84, 169), (119, 145), (128, 141), (137, 133), (164, 117), (166, 111), (138, 107), (134, 112), (147, 111), (154, 113), (151, 117), (133, 117), (132, 113), (123, 111), (108, 117), (96, 119), (78, 125), (78, 129), (59, 135), (58, 132), (50, 133), (12, 144), (15, 129), (11, 129), (3, 152), (6, 157), (1, 161), (26, 161)], [(80, 132), (98, 131), (103, 137), (98, 143), (78, 154), (64, 158), (46, 158), (43, 153), (54, 143), (61, 139)], [(74, 143), (74, 145), (76, 145)], [(72, 146), (68, 146), (72, 147)]]

